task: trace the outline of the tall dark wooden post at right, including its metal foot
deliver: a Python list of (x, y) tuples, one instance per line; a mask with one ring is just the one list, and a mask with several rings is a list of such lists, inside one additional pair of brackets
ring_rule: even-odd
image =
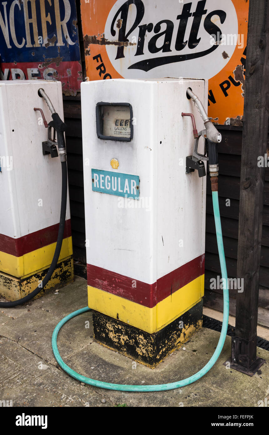
[[(249, 0), (246, 91), (242, 137), (236, 330), (231, 367), (252, 376), (265, 362), (256, 356), (264, 167), (269, 116), (269, 0)], [(265, 166), (265, 165), (263, 165)]]

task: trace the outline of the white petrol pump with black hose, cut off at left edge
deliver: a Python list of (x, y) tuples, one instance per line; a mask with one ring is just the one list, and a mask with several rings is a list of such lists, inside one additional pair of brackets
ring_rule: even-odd
[(13, 301), (0, 302), (3, 307), (26, 301), (47, 283), (73, 281), (60, 118), (60, 82), (0, 81), (0, 295)]

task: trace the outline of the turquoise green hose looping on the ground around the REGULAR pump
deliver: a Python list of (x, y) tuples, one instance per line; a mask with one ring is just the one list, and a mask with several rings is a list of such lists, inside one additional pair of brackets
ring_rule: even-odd
[(107, 390), (139, 391), (139, 392), (166, 391), (166, 390), (173, 390), (174, 388), (184, 387), (185, 385), (189, 385), (197, 381), (198, 379), (202, 378), (202, 376), (205, 375), (210, 370), (210, 368), (213, 367), (213, 365), (219, 358), (219, 355), (223, 349), (223, 345), (226, 338), (226, 333), (228, 328), (228, 318), (229, 318), (229, 290), (228, 290), (226, 262), (225, 262), (224, 248), (223, 248), (223, 237), (222, 237), (220, 215), (219, 215), (218, 192), (217, 191), (212, 192), (212, 197), (213, 197), (213, 209), (214, 209), (214, 218), (215, 218), (215, 225), (216, 225), (216, 235), (217, 235), (218, 250), (219, 250), (219, 261), (220, 261), (221, 273), (223, 278), (223, 325), (222, 325), (218, 345), (212, 357), (208, 361), (208, 363), (201, 370), (195, 373), (195, 375), (192, 375), (189, 378), (182, 379), (181, 381), (171, 382), (169, 384), (160, 384), (160, 385), (111, 384), (110, 382), (97, 381), (95, 379), (87, 378), (86, 376), (80, 375), (76, 371), (72, 370), (72, 368), (70, 368), (68, 365), (66, 365), (63, 359), (61, 358), (57, 348), (57, 335), (60, 329), (62, 328), (62, 326), (68, 320), (72, 319), (73, 317), (76, 317), (77, 315), (85, 313), (86, 311), (90, 311), (90, 308), (85, 307), (85, 308), (81, 308), (80, 310), (74, 311), (73, 313), (63, 318), (53, 331), (53, 335), (52, 335), (53, 354), (60, 367), (64, 371), (66, 371), (68, 375), (72, 376), (73, 378), (77, 379), (80, 382), (84, 382), (85, 384), (93, 385), (94, 387), (106, 388)]

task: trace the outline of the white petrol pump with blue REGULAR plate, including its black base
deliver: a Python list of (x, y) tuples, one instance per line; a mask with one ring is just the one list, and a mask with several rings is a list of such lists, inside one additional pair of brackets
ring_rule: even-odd
[(203, 120), (187, 88), (207, 101), (206, 80), (81, 86), (94, 335), (151, 367), (202, 326), (206, 172), (191, 159), (194, 127), (182, 113), (198, 130)]

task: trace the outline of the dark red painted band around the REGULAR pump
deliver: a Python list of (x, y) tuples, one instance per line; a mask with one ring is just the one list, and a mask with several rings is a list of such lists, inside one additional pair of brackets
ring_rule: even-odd
[(152, 308), (170, 294), (203, 275), (205, 254), (189, 261), (176, 270), (159, 278), (153, 284), (147, 284), (116, 272), (87, 264), (88, 285), (108, 293), (116, 294), (129, 301)]

